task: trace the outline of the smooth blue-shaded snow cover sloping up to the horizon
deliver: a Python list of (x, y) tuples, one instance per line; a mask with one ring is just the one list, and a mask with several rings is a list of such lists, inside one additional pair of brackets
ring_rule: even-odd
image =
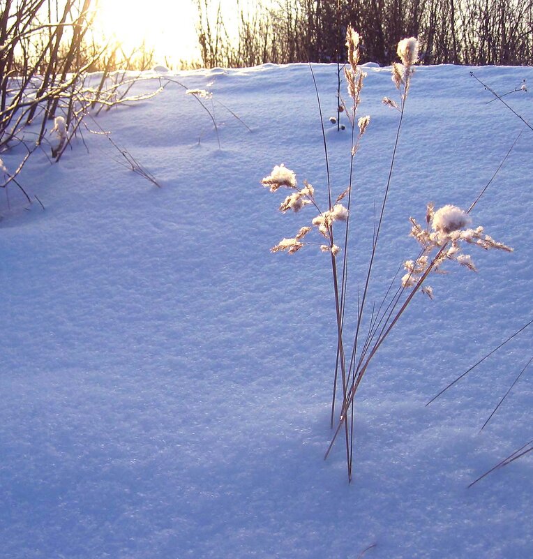
[[(469, 206), (524, 128), (487, 103), (470, 70), (416, 70), (373, 297), (416, 255), (408, 218), (423, 220), (430, 200)], [(367, 71), (353, 276), (368, 258), (398, 121), (380, 103), (396, 93), (389, 70)], [(474, 72), (500, 93), (533, 82), (532, 68)], [(340, 192), (350, 140), (328, 120), (336, 66), (315, 73)], [(355, 559), (373, 544), (366, 558), (532, 557), (532, 454), (467, 489), (532, 438), (531, 370), (479, 431), (530, 359), (531, 331), (425, 404), (531, 320), (533, 133), (472, 214), (515, 252), (472, 252), (479, 274), (449, 266), (430, 282), (434, 301), (415, 297), (358, 393), (347, 484), (343, 445), (323, 460), (329, 257), (269, 253), (314, 214), (281, 215), (285, 193), (260, 186), (285, 163), (325, 200), (310, 70), (175, 77), (212, 91), (253, 131), (215, 103), (218, 149), (209, 115), (171, 84), (98, 117), (161, 188), (84, 133), (89, 154), (80, 140), (59, 164), (43, 155), (24, 168), (20, 182), (45, 210), (15, 186), (9, 205), (0, 193), (0, 557)], [(533, 121), (531, 94), (506, 100)], [(2, 154), (8, 169), (18, 156)]]

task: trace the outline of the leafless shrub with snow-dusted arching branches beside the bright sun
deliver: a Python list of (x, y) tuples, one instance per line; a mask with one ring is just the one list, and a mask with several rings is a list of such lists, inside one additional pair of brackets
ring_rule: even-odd
[[(37, 149), (59, 161), (89, 110), (149, 98), (163, 89), (133, 96), (140, 75), (117, 73), (117, 66), (153, 63), (145, 45), (131, 53), (119, 45), (100, 45), (93, 37), (91, 0), (6, 0), (0, 14), (0, 188), (17, 175)], [(102, 70), (100, 80), (89, 73)], [(153, 77), (151, 78), (153, 79)], [(21, 149), (22, 148), (22, 149)]]

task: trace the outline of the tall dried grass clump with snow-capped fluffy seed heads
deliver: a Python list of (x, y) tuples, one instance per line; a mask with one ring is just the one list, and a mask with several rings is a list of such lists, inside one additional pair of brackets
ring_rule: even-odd
[[(285, 165), (280, 164), (273, 167), (269, 176), (262, 179), (262, 184), (267, 186), (271, 192), (283, 188), (288, 191), (285, 200), (280, 204), (280, 211), (299, 212), (305, 207), (314, 211), (306, 225), (303, 225), (294, 237), (282, 239), (271, 251), (287, 252), (294, 254), (308, 245), (320, 247), (320, 251), (329, 255), (331, 265), (333, 296), (336, 306), (336, 368), (333, 374), (333, 396), (331, 401), (331, 427), (335, 427), (331, 443), (327, 449), (326, 458), (333, 447), (333, 443), (342, 432), (345, 439), (345, 452), (347, 461), (348, 479), (352, 479), (352, 464), (354, 451), (354, 398), (361, 385), (361, 380), (370, 366), (370, 363), (380, 349), (382, 343), (389, 336), (393, 327), (407, 306), (409, 306), (414, 295), (419, 290), (433, 298), (433, 289), (426, 283), (430, 274), (442, 271), (447, 262), (456, 262), (467, 269), (476, 271), (476, 266), (470, 249), (483, 248), (485, 250), (496, 249), (511, 251), (509, 246), (495, 241), (485, 234), (483, 227), (470, 227), (470, 212), (474, 209), (479, 197), (484, 193), (485, 187), (466, 211), (451, 204), (436, 209), (429, 203), (426, 209), (426, 218), (423, 225), (410, 218), (410, 235), (419, 244), (418, 254), (403, 262), (405, 274), (397, 280), (396, 276), (391, 281), (388, 290), (381, 301), (375, 302), (369, 308), (369, 292), (373, 285), (373, 267), (377, 247), (380, 241), (380, 233), (384, 225), (384, 214), (386, 209), (391, 179), (396, 161), (398, 138), (402, 127), (405, 107), (409, 97), (414, 66), (419, 59), (419, 43), (416, 38), (405, 38), (398, 43), (397, 54), (400, 62), (392, 64), (392, 81), (396, 87), (397, 98), (383, 98), (383, 103), (393, 110), (398, 111), (399, 119), (396, 128), (396, 142), (393, 147), (389, 162), (388, 179), (384, 186), (383, 197), (380, 206), (370, 227), (373, 228), (373, 242), (368, 262), (363, 271), (361, 290), (357, 292), (357, 304), (355, 308), (348, 308), (347, 286), (348, 286), (348, 256), (350, 254), (350, 214), (352, 206), (352, 189), (354, 188), (353, 170), (354, 158), (359, 149), (368, 127), (370, 117), (359, 117), (359, 105), (361, 91), (366, 77), (359, 66), (359, 44), (361, 37), (352, 28), (347, 30), (347, 58), (348, 64), (344, 68), (347, 91), (350, 101), (343, 101), (343, 112), (347, 115), (351, 127), (350, 146), (350, 177), (348, 186), (337, 197), (333, 196), (329, 171), (327, 172), (327, 201), (321, 204), (315, 195), (315, 188), (303, 182), (299, 186), (295, 173)], [(312, 69), (311, 69), (312, 71)], [(319, 100), (320, 108), (320, 100)], [(322, 119), (321, 119), (322, 121)], [(322, 128), (324, 147), (326, 140), (324, 128)], [(326, 168), (329, 169), (327, 151)], [(491, 179), (492, 181), (492, 179)], [(490, 183), (489, 183), (490, 184)], [(488, 185), (487, 185), (488, 186)], [(369, 225), (357, 223), (360, 227)], [(313, 240), (319, 239), (318, 241)], [(396, 287), (395, 287), (396, 286)], [(355, 313), (354, 329), (345, 331), (345, 314)], [(340, 379), (339, 373), (340, 372)], [(340, 388), (340, 390), (339, 390)], [(339, 394), (340, 392), (340, 394)]]

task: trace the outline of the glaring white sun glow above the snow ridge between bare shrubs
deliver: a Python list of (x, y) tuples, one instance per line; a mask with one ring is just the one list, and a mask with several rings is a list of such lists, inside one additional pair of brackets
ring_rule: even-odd
[(128, 52), (143, 42), (159, 63), (198, 58), (193, 0), (98, 0), (94, 30)]

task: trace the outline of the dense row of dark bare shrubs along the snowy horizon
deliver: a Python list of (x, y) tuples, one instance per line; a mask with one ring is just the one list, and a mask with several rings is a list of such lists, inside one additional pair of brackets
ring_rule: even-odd
[(400, 38), (417, 36), (421, 64), (533, 63), (533, 0), (278, 0), (252, 13), (236, 4), (232, 37), (220, 4), (197, 0), (207, 68), (336, 61), (350, 25), (365, 38), (362, 62), (389, 64)]

